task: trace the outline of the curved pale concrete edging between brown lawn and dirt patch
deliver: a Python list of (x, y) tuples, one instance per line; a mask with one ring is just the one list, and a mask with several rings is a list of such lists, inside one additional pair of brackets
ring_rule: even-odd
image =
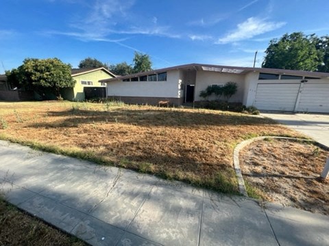
[(293, 140), (293, 141), (307, 141), (307, 142), (313, 142), (316, 143), (318, 146), (320, 146), (321, 148), (325, 148), (328, 149), (327, 146), (324, 146), (321, 143), (318, 143), (317, 141), (314, 140), (309, 140), (309, 139), (300, 139), (300, 138), (296, 138), (296, 137), (275, 137), (275, 136), (264, 136), (264, 137), (254, 137), (252, 139), (247, 139), (245, 141), (242, 141), (241, 143), (239, 143), (235, 148), (234, 148), (234, 152), (233, 152), (233, 163), (234, 163), (234, 169), (235, 169), (235, 173), (236, 173), (236, 177), (238, 178), (238, 185), (239, 185), (239, 192), (242, 195), (245, 195), (246, 197), (248, 196), (247, 194), (247, 189), (245, 189), (245, 181), (243, 180), (243, 176), (242, 176), (242, 172), (241, 172), (241, 168), (240, 168), (240, 162), (239, 162), (239, 154), (240, 151), (245, 148), (245, 146), (248, 146), (250, 143), (253, 143), (254, 141), (258, 141), (258, 140), (263, 140), (263, 139), (267, 139), (267, 138), (273, 138), (273, 139), (288, 139), (288, 140)]

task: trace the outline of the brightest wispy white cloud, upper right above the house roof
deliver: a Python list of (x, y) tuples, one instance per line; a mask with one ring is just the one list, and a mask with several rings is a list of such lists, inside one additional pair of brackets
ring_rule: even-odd
[(219, 38), (216, 43), (227, 44), (230, 42), (247, 40), (262, 33), (278, 29), (285, 24), (284, 22), (270, 22), (256, 17), (247, 18), (245, 22), (238, 24), (234, 31), (231, 31), (223, 38)]

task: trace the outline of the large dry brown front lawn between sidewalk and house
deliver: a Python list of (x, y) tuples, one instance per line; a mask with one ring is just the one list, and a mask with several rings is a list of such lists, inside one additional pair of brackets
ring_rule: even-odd
[(2, 139), (229, 193), (236, 143), (298, 135), (240, 113), (85, 102), (0, 102), (0, 118)]

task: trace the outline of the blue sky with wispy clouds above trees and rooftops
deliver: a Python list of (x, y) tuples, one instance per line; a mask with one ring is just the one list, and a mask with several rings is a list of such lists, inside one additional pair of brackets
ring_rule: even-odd
[(1, 0), (0, 73), (26, 57), (86, 57), (154, 68), (188, 63), (261, 66), (272, 38), (329, 34), (328, 0)]

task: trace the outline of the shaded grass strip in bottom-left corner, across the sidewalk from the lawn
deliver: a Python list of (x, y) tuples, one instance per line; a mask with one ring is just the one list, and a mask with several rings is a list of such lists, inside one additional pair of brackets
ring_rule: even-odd
[(87, 245), (23, 213), (0, 197), (0, 245)]

